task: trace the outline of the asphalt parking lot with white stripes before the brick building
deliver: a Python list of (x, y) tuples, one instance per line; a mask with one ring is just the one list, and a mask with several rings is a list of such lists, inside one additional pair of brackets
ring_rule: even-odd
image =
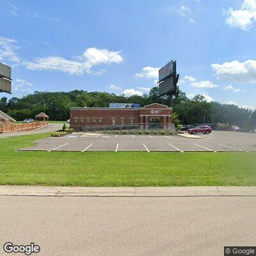
[(35, 151), (146, 151), (146, 152), (250, 152), (256, 151), (256, 134), (213, 131), (200, 138), (160, 135), (68, 134), (36, 141), (19, 150)]

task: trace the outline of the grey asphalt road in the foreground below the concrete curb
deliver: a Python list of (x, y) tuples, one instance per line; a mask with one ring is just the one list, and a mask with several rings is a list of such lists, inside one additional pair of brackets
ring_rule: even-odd
[[(3, 244), (33, 255), (223, 255), (255, 246), (256, 196), (0, 196)], [(20, 254), (19, 254), (20, 255)]]

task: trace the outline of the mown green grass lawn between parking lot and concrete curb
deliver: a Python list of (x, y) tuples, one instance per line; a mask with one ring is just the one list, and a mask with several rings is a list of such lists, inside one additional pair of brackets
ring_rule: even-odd
[(0, 139), (0, 184), (256, 186), (256, 152), (18, 152), (49, 134)]

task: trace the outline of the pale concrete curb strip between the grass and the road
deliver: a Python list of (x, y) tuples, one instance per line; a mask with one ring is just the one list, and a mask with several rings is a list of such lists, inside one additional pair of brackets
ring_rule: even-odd
[(0, 196), (256, 196), (256, 187), (44, 187), (0, 186)]

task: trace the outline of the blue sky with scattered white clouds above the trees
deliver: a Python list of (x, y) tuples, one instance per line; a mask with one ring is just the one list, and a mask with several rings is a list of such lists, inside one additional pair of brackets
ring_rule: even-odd
[(256, 108), (256, 0), (1, 0), (0, 27), (13, 79), (0, 97), (143, 95), (177, 60), (187, 97)]

